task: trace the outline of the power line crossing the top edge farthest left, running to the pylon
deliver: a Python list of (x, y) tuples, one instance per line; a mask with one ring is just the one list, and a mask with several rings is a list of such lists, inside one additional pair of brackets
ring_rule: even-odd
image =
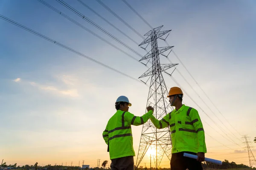
[[(54, 8), (53, 6), (49, 5), (48, 3), (44, 2), (44, 0), (38, 0), (40, 3), (44, 4), (45, 6), (47, 6), (48, 8), (52, 9), (53, 11), (55, 11), (56, 13), (60, 14), (61, 16), (65, 17), (66, 19), (70, 20), (72, 23), (76, 24), (77, 26), (83, 28), (84, 30), (88, 31), (89, 33), (93, 34), (94, 36), (96, 36), (97, 38), (99, 38), (100, 40), (106, 42), (107, 44), (111, 45), (112, 47), (116, 48), (117, 50), (121, 51), (122, 53), (126, 54), (127, 56), (131, 57), (132, 59), (136, 60), (139, 62), (139, 60), (133, 56), (131, 56), (130, 54), (128, 54), (127, 52), (123, 51), (122, 49), (118, 48), (116, 45), (113, 45), (111, 42), (109, 42), (108, 40), (105, 40), (104, 38), (102, 38), (101, 36), (99, 36), (98, 34), (94, 33), (93, 31), (91, 31), (90, 29), (84, 27), (83, 25), (81, 25), (80, 23), (76, 22), (75, 20), (73, 20), (72, 18), (70, 18), (69, 16), (67, 16), (66, 14), (64, 14), (63, 12), (59, 11), (58, 9)], [(143, 64), (142, 62), (140, 62), (141, 64)], [(145, 65), (145, 64), (143, 64)]]

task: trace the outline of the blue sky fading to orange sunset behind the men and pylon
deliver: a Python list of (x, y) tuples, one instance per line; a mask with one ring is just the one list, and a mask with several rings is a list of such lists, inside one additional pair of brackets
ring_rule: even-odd
[[(140, 59), (57, 1), (45, 1)], [(146, 51), (78, 1), (65, 2), (141, 55), (146, 54)], [(136, 42), (143, 41), (95, 0), (84, 2)], [(144, 35), (150, 30), (122, 1), (102, 2), (140, 34)], [(241, 135), (247, 134), (252, 141), (256, 130), (253, 107), (256, 95), (256, 58), (253, 48), (256, 44), (255, 1), (128, 0), (128, 3), (151, 26), (163, 25), (163, 30), (172, 29), (167, 42), (175, 46), (177, 56), (221, 114)], [(38, 1), (2, 0), (0, 14), (132, 77), (140, 77), (148, 69)], [(84, 160), (91, 167), (96, 166), (97, 159), (108, 160), (102, 130), (115, 113), (116, 98), (128, 96), (133, 103), (131, 113), (140, 116), (145, 111), (148, 87), (4, 20), (0, 20), (0, 37), (0, 71), (3, 73), (0, 77), (0, 158), (7, 164), (17, 162), (20, 165), (34, 164), (36, 161), (40, 165), (66, 161), (67, 164), (73, 161), (78, 165), (79, 160)], [(159, 40), (159, 46), (166, 44)], [(206, 156), (248, 164), (243, 149), (245, 145), (242, 139), (239, 140), (242, 136), (221, 116), (175, 55), (171, 53), (169, 58), (179, 64), (177, 69), (210, 109), (175, 71), (173, 77), (181, 88), (192, 96), (214, 122), (224, 128), (225, 133), (187, 95), (184, 96), (185, 104), (196, 108), (203, 122), (213, 127), (204, 123), (205, 132), (218, 141), (206, 135)], [(168, 63), (163, 56), (160, 56), (160, 60)], [(177, 86), (170, 77), (164, 75), (164, 78), (168, 87)], [(133, 127), (136, 154), (141, 128)], [(236, 144), (223, 138), (233, 136), (230, 131), (239, 138), (233, 139)], [(145, 158), (145, 163), (148, 163), (148, 158)], [(163, 160), (162, 167), (168, 166), (169, 162)]]

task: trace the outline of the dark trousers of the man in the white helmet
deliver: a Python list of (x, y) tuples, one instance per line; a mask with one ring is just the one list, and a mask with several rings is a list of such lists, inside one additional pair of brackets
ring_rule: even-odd
[(111, 170), (134, 170), (133, 156), (111, 159)]

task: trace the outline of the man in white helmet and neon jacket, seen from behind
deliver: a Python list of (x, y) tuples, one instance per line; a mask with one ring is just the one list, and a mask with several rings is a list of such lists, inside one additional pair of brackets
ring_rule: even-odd
[(154, 108), (147, 107), (148, 113), (134, 116), (128, 112), (129, 102), (126, 96), (116, 99), (116, 113), (109, 119), (103, 131), (103, 139), (108, 144), (111, 170), (134, 170), (134, 148), (131, 125), (143, 125), (152, 116)]

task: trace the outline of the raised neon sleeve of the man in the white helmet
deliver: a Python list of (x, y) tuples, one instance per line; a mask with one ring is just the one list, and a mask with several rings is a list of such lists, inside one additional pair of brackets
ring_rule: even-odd
[(148, 113), (145, 113), (143, 116), (134, 116), (134, 114), (130, 112), (125, 112), (125, 121), (128, 121), (131, 125), (143, 125), (145, 122), (148, 121), (150, 116), (152, 116), (153, 111), (148, 111)]

